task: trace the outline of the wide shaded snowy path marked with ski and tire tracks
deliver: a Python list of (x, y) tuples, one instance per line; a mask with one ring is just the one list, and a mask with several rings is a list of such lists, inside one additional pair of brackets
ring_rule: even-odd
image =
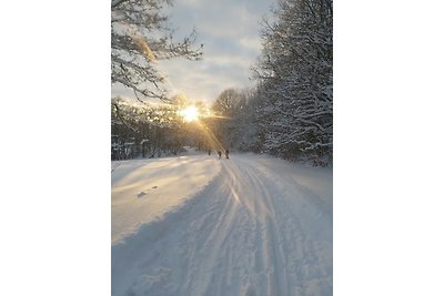
[[(113, 295), (332, 295), (327, 208), (254, 159), (231, 159), (178, 213), (115, 249), (131, 259), (113, 269)], [(131, 249), (135, 241), (147, 247)]]

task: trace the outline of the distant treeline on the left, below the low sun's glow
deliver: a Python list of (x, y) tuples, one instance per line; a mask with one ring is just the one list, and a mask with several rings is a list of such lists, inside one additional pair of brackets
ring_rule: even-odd
[(200, 129), (183, 121), (180, 108), (180, 104), (153, 106), (112, 99), (111, 159), (178, 155), (183, 146), (206, 149)]

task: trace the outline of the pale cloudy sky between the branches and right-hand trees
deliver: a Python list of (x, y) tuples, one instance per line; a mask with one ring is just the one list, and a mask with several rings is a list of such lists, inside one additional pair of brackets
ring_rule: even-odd
[[(158, 62), (170, 94), (211, 103), (225, 89), (253, 86), (251, 67), (261, 52), (261, 21), (271, 18), (273, 4), (274, 0), (174, 0), (167, 11), (174, 38), (180, 40), (194, 28), (203, 59)], [(133, 96), (118, 85), (112, 95)]]

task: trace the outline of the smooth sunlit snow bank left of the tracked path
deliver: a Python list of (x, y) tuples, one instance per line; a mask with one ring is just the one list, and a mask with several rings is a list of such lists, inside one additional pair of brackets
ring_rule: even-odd
[(112, 243), (201, 191), (221, 170), (208, 155), (120, 162), (111, 174)]

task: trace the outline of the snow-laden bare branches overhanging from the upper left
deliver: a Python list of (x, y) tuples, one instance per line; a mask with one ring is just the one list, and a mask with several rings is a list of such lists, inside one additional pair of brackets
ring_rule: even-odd
[[(161, 14), (171, 0), (111, 1), (111, 83), (130, 88), (135, 96), (168, 101), (162, 88), (164, 78), (155, 69), (155, 61), (183, 57), (198, 60), (201, 50), (193, 50), (193, 31), (175, 43), (168, 18)], [(201, 47), (202, 48), (202, 47)]]

